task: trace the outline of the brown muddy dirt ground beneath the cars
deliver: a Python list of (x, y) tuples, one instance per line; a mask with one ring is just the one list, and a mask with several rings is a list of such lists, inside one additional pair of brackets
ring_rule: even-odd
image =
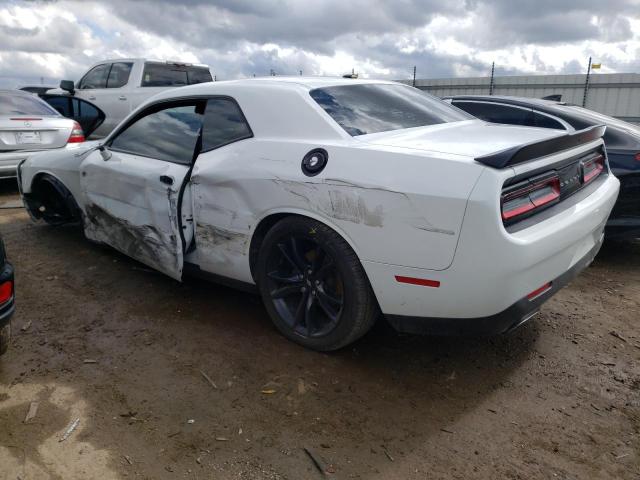
[(305, 448), (336, 479), (640, 478), (639, 243), (606, 246), (512, 334), (379, 322), (319, 354), (257, 297), (33, 224), (16, 198), (0, 185), (18, 305), (2, 480), (321, 478)]

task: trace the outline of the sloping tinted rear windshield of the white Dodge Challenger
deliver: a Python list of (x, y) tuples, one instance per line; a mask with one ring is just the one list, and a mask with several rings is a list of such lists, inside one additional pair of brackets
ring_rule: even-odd
[(352, 136), (469, 120), (472, 117), (405, 85), (342, 85), (309, 92)]

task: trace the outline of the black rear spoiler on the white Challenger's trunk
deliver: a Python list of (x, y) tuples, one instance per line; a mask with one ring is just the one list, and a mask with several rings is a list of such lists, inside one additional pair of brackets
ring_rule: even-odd
[(504, 168), (592, 142), (602, 138), (606, 128), (604, 125), (596, 125), (548, 140), (507, 148), (497, 153), (476, 157), (475, 160), (489, 167)]

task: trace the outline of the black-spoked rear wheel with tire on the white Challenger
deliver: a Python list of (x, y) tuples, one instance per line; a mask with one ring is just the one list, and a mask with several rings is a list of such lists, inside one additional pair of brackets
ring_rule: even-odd
[(278, 330), (314, 350), (350, 344), (377, 316), (354, 251), (336, 232), (308, 218), (288, 217), (269, 230), (258, 256), (258, 284)]

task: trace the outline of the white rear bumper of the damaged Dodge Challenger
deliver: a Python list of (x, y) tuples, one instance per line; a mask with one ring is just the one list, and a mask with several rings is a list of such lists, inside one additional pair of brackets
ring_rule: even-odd
[[(439, 330), (455, 332), (463, 330), (456, 326), (463, 319), (479, 322), (472, 328), (466, 326), (467, 331), (487, 331), (485, 323), (493, 325), (489, 331), (508, 330), (591, 261), (602, 243), (619, 182), (613, 175), (603, 177), (586, 192), (588, 195), (576, 195), (561, 211), (517, 232), (506, 231), (496, 211), (497, 199), (491, 192), (500, 191), (500, 186), (500, 180), (491, 176), (478, 181), (449, 268), (427, 270), (362, 262), (382, 313), (392, 323), (395, 319), (403, 330), (423, 331), (401, 322), (403, 317), (423, 318), (432, 325), (451, 322), (452, 326)], [(407, 284), (398, 277), (429, 282)], [(551, 291), (536, 302), (522, 302), (549, 282), (555, 282)]]

